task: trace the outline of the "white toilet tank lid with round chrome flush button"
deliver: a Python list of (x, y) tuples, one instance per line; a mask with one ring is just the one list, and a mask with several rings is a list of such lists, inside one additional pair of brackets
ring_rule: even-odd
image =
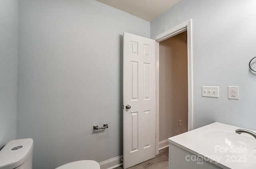
[(12, 140), (0, 151), (0, 169), (14, 169), (22, 165), (33, 151), (31, 138)]

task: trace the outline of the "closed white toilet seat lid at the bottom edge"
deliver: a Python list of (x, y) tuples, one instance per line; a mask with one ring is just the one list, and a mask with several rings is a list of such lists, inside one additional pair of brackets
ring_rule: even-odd
[(93, 160), (81, 160), (66, 163), (56, 169), (100, 169), (99, 163)]

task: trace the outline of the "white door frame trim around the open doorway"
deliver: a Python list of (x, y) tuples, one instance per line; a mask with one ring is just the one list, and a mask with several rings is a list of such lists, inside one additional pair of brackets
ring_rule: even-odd
[(153, 38), (156, 40), (156, 154), (159, 153), (159, 42), (184, 31), (188, 36), (188, 131), (193, 130), (192, 19), (189, 19)]

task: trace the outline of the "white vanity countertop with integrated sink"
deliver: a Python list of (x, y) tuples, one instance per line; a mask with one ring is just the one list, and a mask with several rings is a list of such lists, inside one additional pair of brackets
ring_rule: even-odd
[(215, 122), (168, 141), (224, 169), (256, 169), (256, 139), (237, 129), (244, 128)]

